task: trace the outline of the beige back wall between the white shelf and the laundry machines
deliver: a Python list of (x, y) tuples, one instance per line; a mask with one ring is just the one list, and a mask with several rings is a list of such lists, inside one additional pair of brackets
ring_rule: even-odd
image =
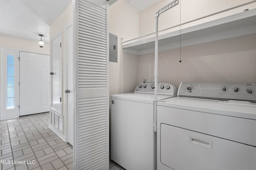
[[(256, 34), (159, 52), (158, 79), (180, 82), (256, 82)], [(139, 81), (154, 80), (154, 53), (139, 57)]]

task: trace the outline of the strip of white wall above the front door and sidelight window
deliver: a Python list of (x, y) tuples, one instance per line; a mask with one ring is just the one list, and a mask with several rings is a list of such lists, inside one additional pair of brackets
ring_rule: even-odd
[[(40, 37), (38, 36), (38, 41)], [(44, 41), (44, 37), (42, 37)], [(20, 51), (28, 51), (32, 53), (40, 53), (40, 54), (50, 54), (50, 45), (44, 43), (44, 47), (40, 48), (38, 45), (38, 41), (31, 41), (27, 39), (20, 39), (16, 37), (10, 37), (6, 35), (0, 35), (0, 47), (9, 47), (13, 49), (18, 49)]]

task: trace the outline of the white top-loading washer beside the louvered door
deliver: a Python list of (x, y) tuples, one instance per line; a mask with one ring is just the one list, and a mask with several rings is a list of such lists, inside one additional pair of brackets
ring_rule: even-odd
[[(158, 100), (175, 97), (175, 86), (158, 83)], [(156, 170), (154, 84), (134, 93), (111, 95), (110, 157), (126, 170)]]

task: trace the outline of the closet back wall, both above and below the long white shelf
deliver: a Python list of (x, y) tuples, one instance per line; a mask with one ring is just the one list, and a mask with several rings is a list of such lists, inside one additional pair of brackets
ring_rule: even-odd
[[(181, 22), (199, 18), (249, 1), (180, 0), (182, 5)], [(154, 32), (154, 12), (168, 3), (170, 3), (169, 0), (163, 0), (159, 4), (140, 12), (140, 35)], [(233, 10), (232, 12), (207, 18), (200, 22), (255, 7), (256, 3)], [(160, 29), (180, 23), (180, 8), (173, 9), (160, 16)], [(177, 18), (173, 19), (173, 16), (177, 16), (178, 20)], [(195, 22), (190, 25), (197, 23)], [(160, 51), (158, 79), (161, 82), (174, 84), (177, 88), (180, 82), (256, 82), (255, 44), (256, 34), (253, 34), (192, 45), (181, 49)], [(181, 63), (179, 62), (180, 57), (182, 60)], [(154, 53), (139, 56), (139, 82), (143, 79), (154, 80)]]

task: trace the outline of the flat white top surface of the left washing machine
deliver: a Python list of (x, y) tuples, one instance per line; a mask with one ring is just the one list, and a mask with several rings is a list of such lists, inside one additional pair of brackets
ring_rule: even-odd
[[(175, 97), (175, 96), (157, 95), (158, 100), (164, 100), (172, 97)], [(114, 94), (114, 95), (111, 95), (111, 98), (154, 104), (154, 94), (143, 94), (143, 93)]]

